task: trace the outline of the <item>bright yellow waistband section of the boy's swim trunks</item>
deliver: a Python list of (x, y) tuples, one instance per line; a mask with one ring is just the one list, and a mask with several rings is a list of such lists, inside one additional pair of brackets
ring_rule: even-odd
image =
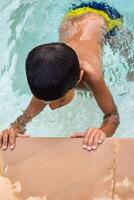
[(89, 7), (77, 8), (75, 10), (71, 10), (65, 15), (65, 18), (69, 17), (69, 16), (70, 17), (80, 16), (80, 15), (83, 15), (84, 13), (88, 13), (88, 12), (96, 13), (96, 14), (104, 17), (104, 19), (106, 20), (106, 23), (107, 23), (107, 32), (109, 32), (112, 28), (114, 28), (116, 26), (122, 25), (122, 23), (123, 23), (122, 19), (111, 19), (106, 12), (101, 11), (101, 10), (96, 10), (94, 8), (89, 8)]

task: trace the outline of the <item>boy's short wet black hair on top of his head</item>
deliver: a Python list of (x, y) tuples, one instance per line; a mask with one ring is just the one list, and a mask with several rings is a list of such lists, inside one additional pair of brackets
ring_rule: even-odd
[(37, 46), (26, 59), (26, 76), (35, 97), (46, 101), (59, 99), (79, 80), (78, 57), (64, 43)]

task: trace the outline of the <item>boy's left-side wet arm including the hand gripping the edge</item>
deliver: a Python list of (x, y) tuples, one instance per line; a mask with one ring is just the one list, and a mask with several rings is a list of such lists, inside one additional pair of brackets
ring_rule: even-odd
[(26, 137), (24, 134), (26, 131), (26, 123), (39, 114), (46, 105), (47, 104), (33, 96), (23, 114), (11, 123), (10, 128), (0, 132), (0, 147), (6, 150), (9, 146), (10, 149), (13, 150), (15, 148), (16, 136)]

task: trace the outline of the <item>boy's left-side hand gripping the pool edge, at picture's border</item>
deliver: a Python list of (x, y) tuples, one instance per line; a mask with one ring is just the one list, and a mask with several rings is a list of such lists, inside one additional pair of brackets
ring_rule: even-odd
[(16, 137), (29, 137), (26, 134), (18, 134), (17, 129), (11, 127), (0, 132), (0, 148), (6, 150), (8, 147), (13, 150), (15, 148)]

